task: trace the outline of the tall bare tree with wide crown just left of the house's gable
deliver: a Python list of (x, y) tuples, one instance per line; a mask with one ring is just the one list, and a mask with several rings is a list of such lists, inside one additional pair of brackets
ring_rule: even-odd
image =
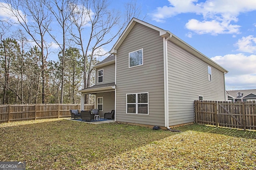
[(71, 20), (75, 28), (72, 29), (72, 35), (84, 58), (84, 88), (90, 86), (94, 58), (106, 55), (108, 52), (102, 49), (120, 35), (130, 18), (140, 15), (136, 1), (130, 4), (133, 5), (126, 5), (126, 20), (121, 20), (120, 12), (110, 10), (107, 0), (78, 0), (74, 4)]

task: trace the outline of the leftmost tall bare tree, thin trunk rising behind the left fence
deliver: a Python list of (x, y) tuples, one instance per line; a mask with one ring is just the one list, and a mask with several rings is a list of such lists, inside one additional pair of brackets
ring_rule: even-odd
[(44, 7), (44, 0), (6, 0), (5, 6), (18, 23), (30, 35), (32, 41), (41, 50), (42, 103), (45, 102), (45, 68), (48, 49), (45, 35), (52, 21), (50, 12)]

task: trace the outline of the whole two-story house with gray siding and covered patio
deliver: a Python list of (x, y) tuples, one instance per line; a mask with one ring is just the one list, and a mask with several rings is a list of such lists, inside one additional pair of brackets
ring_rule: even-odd
[(133, 18), (110, 52), (80, 90), (101, 117), (115, 109), (115, 121), (169, 128), (194, 122), (194, 100), (226, 100), (227, 70), (169, 31)]

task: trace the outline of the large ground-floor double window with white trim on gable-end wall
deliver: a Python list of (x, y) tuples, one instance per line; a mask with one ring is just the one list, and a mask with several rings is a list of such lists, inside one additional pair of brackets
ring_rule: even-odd
[(148, 115), (148, 92), (126, 94), (126, 113)]

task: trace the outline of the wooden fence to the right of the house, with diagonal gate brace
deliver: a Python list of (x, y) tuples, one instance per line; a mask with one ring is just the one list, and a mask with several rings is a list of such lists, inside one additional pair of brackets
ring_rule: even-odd
[(200, 124), (256, 130), (255, 102), (194, 101), (195, 121)]

